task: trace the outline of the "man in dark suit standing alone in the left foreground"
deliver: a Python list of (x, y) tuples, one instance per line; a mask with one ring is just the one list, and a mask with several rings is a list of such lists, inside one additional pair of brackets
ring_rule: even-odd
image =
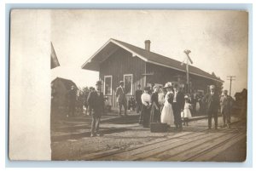
[(90, 106), (92, 123), (91, 123), (91, 137), (100, 136), (99, 128), (102, 113), (104, 111), (104, 97), (102, 94), (102, 82), (96, 82), (96, 91), (91, 91), (88, 95), (87, 103)]

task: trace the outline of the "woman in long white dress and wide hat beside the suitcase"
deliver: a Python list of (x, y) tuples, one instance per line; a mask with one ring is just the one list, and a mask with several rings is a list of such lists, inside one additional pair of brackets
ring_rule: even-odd
[(165, 97), (165, 104), (161, 112), (161, 123), (167, 123), (170, 127), (174, 123), (173, 111), (172, 111), (172, 83), (166, 83), (165, 86), (167, 93)]

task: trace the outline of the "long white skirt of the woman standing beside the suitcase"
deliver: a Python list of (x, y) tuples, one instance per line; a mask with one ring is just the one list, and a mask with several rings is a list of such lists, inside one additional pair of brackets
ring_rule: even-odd
[(166, 101), (161, 112), (161, 123), (167, 123), (168, 125), (172, 125), (174, 123), (172, 105)]

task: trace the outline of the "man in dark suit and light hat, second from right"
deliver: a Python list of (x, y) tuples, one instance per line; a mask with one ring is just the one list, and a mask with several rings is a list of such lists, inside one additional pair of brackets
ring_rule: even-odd
[(207, 105), (207, 115), (208, 115), (208, 128), (212, 128), (212, 116), (214, 117), (215, 129), (218, 128), (218, 105), (219, 99), (218, 94), (215, 92), (215, 86), (210, 86), (210, 94), (207, 94), (203, 101)]

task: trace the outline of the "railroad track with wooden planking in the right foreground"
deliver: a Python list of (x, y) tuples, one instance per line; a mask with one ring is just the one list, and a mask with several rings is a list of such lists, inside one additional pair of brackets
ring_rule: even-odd
[(125, 150), (111, 149), (84, 154), (79, 160), (115, 161), (211, 161), (218, 151), (246, 138), (246, 121), (232, 123), (231, 129), (182, 132), (167, 140)]

